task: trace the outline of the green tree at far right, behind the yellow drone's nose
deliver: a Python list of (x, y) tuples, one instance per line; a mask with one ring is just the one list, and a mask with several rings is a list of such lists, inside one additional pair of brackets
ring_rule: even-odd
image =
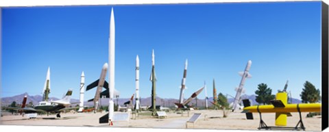
[(302, 103), (316, 103), (321, 100), (320, 90), (316, 89), (309, 81), (304, 83), (304, 88), (300, 97), (302, 98)]

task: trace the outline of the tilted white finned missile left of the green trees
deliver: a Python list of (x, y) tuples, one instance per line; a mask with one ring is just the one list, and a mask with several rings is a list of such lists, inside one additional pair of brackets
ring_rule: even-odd
[(252, 61), (249, 60), (247, 63), (247, 66), (245, 66), (245, 71), (239, 72), (239, 75), (241, 75), (242, 79), (241, 79), (239, 87), (236, 88), (236, 95), (235, 95), (234, 102), (232, 105), (232, 111), (239, 109), (239, 107), (240, 107), (239, 103), (241, 102), (241, 94), (245, 93), (245, 90), (244, 90), (245, 79), (252, 78), (252, 75), (249, 74), (249, 70), (250, 70), (251, 66), (252, 66)]

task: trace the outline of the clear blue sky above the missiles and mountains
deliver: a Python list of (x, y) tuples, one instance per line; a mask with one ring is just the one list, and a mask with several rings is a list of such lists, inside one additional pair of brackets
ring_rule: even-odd
[[(41, 94), (50, 66), (50, 96), (72, 89), (79, 98), (82, 71), (88, 85), (108, 62), (111, 8), (3, 8), (2, 96)], [(135, 92), (136, 55), (141, 97), (151, 95), (152, 49), (162, 98), (179, 98), (186, 59), (185, 98), (204, 81), (212, 96), (212, 79), (217, 92), (234, 96), (248, 60), (252, 79), (245, 94), (254, 94), (259, 83), (276, 94), (287, 79), (293, 98), (300, 98), (306, 80), (321, 90), (321, 1), (120, 5), (114, 16), (115, 87), (122, 98)], [(93, 96), (95, 90), (85, 92), (85, 101)]]

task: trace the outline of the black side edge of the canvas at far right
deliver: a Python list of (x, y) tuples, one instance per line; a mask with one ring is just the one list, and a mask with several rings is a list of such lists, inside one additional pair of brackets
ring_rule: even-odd
[(328, 5), (321, 2), (321, 85), (322, 85), (322, 131), (328, 128)]

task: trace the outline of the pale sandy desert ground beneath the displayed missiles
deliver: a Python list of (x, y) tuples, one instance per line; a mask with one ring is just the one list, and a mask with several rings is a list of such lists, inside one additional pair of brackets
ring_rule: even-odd
[[(120, 112), (119, 112), (120, 113)], [(185, 129), (186, 121), (193, 114), (202, 114), (195, 122), (194, 129), (235, 129), (235, 130), (258, 130), (259, 114), (254, 113), (254, 120), (246, 120), (245, 114), (241, 111), (228, 113), (227, 118), (223, 118), (222, 110), (194, 110), (184, 111), (183, 114), (175, 111), (167, 112), (167, 118), (157, 118), (150, 116), (149, 112), (141, 112), (136, 115), (130, 114), (128, 121), (114, 121), (112, 127), (140, 127), (140, 128), (174, 128)], [(61, 118), (56, 118), (56, 114), (38, 115), (37, 118), (28, 119), (21, 115), (5, 115), (1, 117), (0, 124), (5, 125), (38, 125), (38, 126), (81, 126), (81, 127), (108, 127), (108, 124), (99, 124), (99, 118), (106, 112), (96, 113), (62, 113)], [(302, 121), (306, 131), (321, 131), (321, 116), (306, 118), (307, 113), (302, 113)], [(298, 113), (292, 113), (292, 117), (287, 118), (287, 127), (295, 127), (300, 120)], [(275, 114), (262, 114), (267, 126), (275, 126)], [(188, 129), (193, 129), (193, 123), (187, 123)], [(290, 130), (290, 129), (287, 129)]]

